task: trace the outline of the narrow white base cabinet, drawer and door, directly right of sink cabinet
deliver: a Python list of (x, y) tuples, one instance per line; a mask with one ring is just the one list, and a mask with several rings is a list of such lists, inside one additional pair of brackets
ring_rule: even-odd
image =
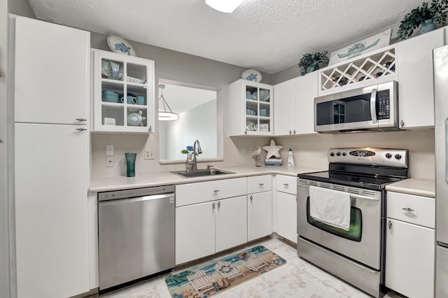
[(248, 241), (272, 234), (272, 176), (247, 178)]

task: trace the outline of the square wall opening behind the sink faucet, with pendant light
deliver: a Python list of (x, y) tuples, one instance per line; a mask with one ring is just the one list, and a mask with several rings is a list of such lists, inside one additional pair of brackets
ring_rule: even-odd
[[(161, 88), (164, 85), (165, 88)], [(218, 92), (211, 87), (190, 85), (172, 80), (159, 80), (158, 109), (163, 111), (160, 95), (169, 108), (179, 115), (177, 120), (158, 121), (160, 163), (174, 164), (186, 161), (181, 153), (186, 146), (200, 141), (202, 154), (199, 161), (223, 160), (223, 133)], [(221, 121), (221, 122), (220, 122)]]

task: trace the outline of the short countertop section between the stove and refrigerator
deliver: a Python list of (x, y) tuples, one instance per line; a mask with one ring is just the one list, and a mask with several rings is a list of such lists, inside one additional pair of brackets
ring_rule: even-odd
[(435, 181), (409, 178), (386, 185), (386, 190), (423, 197), (435, 197)]

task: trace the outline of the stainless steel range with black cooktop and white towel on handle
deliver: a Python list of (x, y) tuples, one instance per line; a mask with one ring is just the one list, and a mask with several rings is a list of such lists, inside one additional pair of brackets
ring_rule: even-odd
[[(360, 290), (381, 297), (386, 223), (384, 187), (408, 177), (407, 159), (407, 150), (333, 148), (328, 150), (328, 171), (299, 174), (297, 254)], [(317, 196), (327, 200), (323, 209), (315, 199)], [(339, 204), (340, 198), (342, 202), (347, 199), (346, 210), (343, 209), (346, 212), (342, 212), (346, 213), (346, 227), (316, 217), (315, 210), (325, 211), (328, 205)], [(339, 206), (329, 209), (325, 212), (334, 215), (331, 213), (339, 210)], [(339, 220), (339, 214), (334, 216)]]

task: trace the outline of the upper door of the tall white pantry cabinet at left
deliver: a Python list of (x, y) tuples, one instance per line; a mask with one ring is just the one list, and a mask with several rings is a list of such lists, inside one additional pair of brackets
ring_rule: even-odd
[(85, 125), (89, 59), (87, 31), (16, 17), (15, 122)]

